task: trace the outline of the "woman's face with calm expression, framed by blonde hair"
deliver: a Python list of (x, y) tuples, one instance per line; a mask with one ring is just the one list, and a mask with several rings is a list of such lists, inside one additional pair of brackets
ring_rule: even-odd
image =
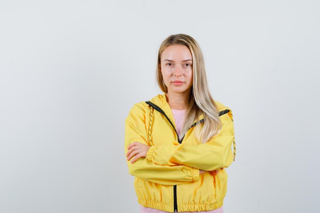
[(185, 45), (173, 44), (161, 54), (161, 73), (168, 91), (190, 92), (193, 83), (192, 55)]

